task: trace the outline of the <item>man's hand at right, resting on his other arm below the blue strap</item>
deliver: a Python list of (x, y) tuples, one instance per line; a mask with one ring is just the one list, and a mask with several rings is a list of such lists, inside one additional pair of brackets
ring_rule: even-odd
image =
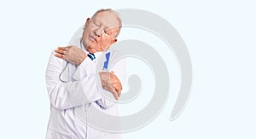
[(113, 72), (99, 72), (102, 88), (111, 92), (116, 100), (121, 95), (122, 84)]

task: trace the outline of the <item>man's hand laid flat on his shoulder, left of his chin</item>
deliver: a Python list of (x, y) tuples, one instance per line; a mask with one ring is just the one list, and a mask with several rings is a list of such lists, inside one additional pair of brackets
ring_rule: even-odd
[(69, 61), (75, 65), (80, 65), (87, 55), (82, 49), (76, 46), (58, 47), (55, 49), (55, 56)]

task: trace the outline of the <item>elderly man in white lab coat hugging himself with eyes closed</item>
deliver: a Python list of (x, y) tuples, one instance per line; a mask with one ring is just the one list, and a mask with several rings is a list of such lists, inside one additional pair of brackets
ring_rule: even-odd
[[(120, 28), (121, 20), (115, 11), (98, 10), (91, 19), (86, 20), (81, 38), (70, 46), (58, 47), (52, 53), (46, 70), (50, 101), (46, 139), (120, 138), (117, 134), (88, 125), (94, 119), (95, 109), (118, 115), (117, 103), (101, 92), (107, 90), (115, 99), (119, 98), (125, 81), (125, 64), (122, 61), (114, 62), (108, 69), (111, 72), (96, 72), (96, 66), (101, 66), (99, 57), (117, 41)], [(114, 61), (116, 54), (112, 51), (108, 55), (110, 61)], [(96, 82), (97, 75), (100, 76), (100, 85)], [(103, 124), (104, 117), (101, 120)]]

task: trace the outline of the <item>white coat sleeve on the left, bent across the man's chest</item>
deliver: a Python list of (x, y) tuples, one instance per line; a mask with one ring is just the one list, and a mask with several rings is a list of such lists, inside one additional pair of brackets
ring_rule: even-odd
[[(91, 101), (102, 98), (96, 85), (96, 73), (86, 71), (84, 65), (90, 66), (91, 61), (85, 59), (74, 73), (73, 81), (67, 83), (61, 82), (59, 76), (64, 68), (64, 60), (55, 57), (54, 52), (50, 55), (49, 63), (46, 69), (46, 85), (51, 105), (57, 109), (64, 110), (72, 107), (79, 107)], [(83, 68), (84, 72), (91, 72), (84, 78), (77, 78), (79, 69)]]

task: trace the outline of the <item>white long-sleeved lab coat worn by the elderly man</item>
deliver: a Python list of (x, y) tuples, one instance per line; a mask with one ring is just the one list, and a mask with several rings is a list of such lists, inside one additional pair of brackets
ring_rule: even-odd
[[(80, 46), (80, 38), (76, 39), (73, 45)], [(86, 50), (82, 47), (84, 52)], [(67, 61), (55, 57), (54, 52), (49, 57), (46, 70), (46, 84), (50, 101), (50, 116), (46, 134), (46, 139), (120, 139), (119, 134), (108, 133), (104, 130), (96, 130), (86, 124), (88, 120), (97, 120), (104, 123), (104, 117), (94, 119), (92, 107), (96, 107), (100, 112), (118, 115), (117, 103), (109, 101), (102, 96), (102, 87), (96, 84), (97, 58), (102, 52), (96, 53), (96, 60), (91, 61), (87, 57), (79, 66), (68, 63), (67, 68), (62, 72), (61, 82), (59, 76)], [(119, 57), (119, 53), (112, 51), (111, 61), (114, 57)], [(112, 62), (113, 63), (113, 62)], [(102, 65), (103, 67), (103, 65)], [(113, 67), (108, 66), (109, 71), (113, 71), (121, 84), (125, 82), (125, 62), (119, 61)], [(85, 121), (85, 122), (84, 122)], [(118, 121), (118, 120), (117, 120)], [(114, 123), (115, 125), (117, 123)]]

